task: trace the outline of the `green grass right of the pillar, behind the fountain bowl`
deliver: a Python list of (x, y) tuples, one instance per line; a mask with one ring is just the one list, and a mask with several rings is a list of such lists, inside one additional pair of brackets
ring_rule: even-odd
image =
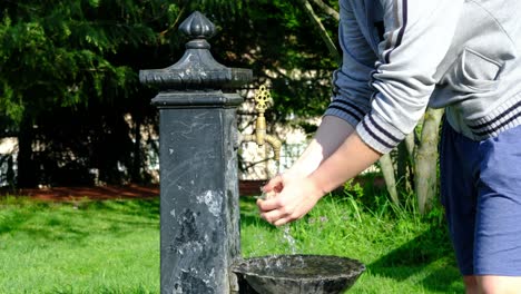
[[(289, 225), (296, 253), (363, 262), (367, 270), (348, 293), (464, 293), (441, 210), (421, 217), (414, 209), (392, 207), (384, 197), (375, 202), (381, 203), (370, 209), (348, 195), (322, 199)], [(411, 199), (407, 204), (413, 207)], [(256, 213), (254, 200), (242, 202), (243, 255), (292, 253), (284, 232)]]

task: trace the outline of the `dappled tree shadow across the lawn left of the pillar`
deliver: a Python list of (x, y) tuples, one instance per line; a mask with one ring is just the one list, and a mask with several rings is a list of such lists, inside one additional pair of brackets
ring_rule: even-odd
[(42, 246), (52, 242), (86, 246), (90, 236), (118, 237), (141, 228), (159, 232), (158, 199), (23, 202), (3, 205), (0, 212), (0, 236), (26, 236)]

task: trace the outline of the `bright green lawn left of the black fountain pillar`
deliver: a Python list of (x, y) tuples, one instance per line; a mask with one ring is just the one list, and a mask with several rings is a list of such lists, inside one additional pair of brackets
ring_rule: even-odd
[(0, 293), (158, 293), (157, 200), (0, 205)]

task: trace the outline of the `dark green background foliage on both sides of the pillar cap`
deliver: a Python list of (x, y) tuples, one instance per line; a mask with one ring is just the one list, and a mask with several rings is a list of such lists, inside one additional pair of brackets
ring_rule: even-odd
[[(156, 90), (137, 74), (180, 58), (186, 39), (177, 28), (194, 10), (218, 28), (210, 43), (219, 62), (253, 69), (255, 84), (272, 80), (271, 121), (324, 111), (336, 65), (298, 3), (2, 1), (0, 122), (2, 136), (19, 136), (18, 185), (92, 184), (92, 168), (105, 183), (146, 182), (146, 154), (130, 133), (157, 125), (149, 106)], [(321, 17), (334, 35), (336, 23)], [(125, 124), (128, 114), (134, 126)], [(36, 141), (41, 148), (32, 150)]]

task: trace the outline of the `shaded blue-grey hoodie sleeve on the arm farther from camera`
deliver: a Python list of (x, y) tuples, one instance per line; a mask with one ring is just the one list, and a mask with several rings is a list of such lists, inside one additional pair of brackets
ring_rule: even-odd
[(340, 1), (338, 41), (342, 66), (333, 74), (333, 98), (325, 116), (336, 116), (353, 127), (370, 111), (373, 89), (370, 76), (377, 56), (371, 49), (354, 17), (350, 1)]

